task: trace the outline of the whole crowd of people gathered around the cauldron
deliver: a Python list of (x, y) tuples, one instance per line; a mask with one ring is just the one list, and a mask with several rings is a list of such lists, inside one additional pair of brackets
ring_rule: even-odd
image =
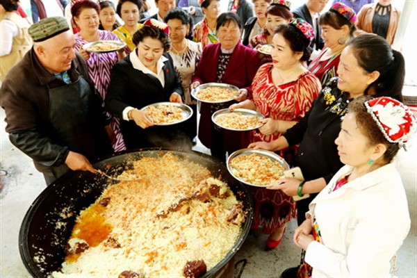
[[(251, 229), (269, 234), (272, 250), (297, 218), (302, 260), (282, 277), (386, 276), (410, 227), (392, 162), (416, 132), (401, 103), (404, 57), (391, 48), (400, 12), (389, 0), (334, 1), (323, 12), (327, 1), (291, 10), (285, 0), (230, 0), (220, 13), (219, 0), (156, 0), (149, 15), (142, 0), (83, 0), (68, 4), (70, 20), (30, 25), (15, 13), (18, 1), (0, 0), (0, 104), (10, 141), (48, 185), (71, 170), (95, 173), (90, 161), (106, 154), (190, 150), (197, 138), (220, 161), (246, 147), (277, 152), (304, 181), (251, 187)], [(83, 47), (98, 40), (126, 46)], [(265, 44), (270, 55), (258, 51)], [(238, 95), (197, 103), (191, 90), (213, 82)], [(161, 101), (187, 104), (193, 117), (157, 126), (141, 109)], [(265, 119), (254, 131), (222, 129), (211, 120), (222, 108)]]

